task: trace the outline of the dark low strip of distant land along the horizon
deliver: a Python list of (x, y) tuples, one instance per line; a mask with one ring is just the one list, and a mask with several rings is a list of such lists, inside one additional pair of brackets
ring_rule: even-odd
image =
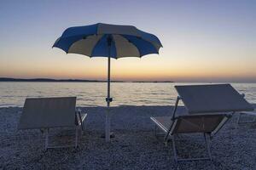
[[(52, 79), (52, 78), (10, 78), (0, 77), (0, 82), (107, 82), (102, 80), (84, 80), (84, 79)], [(111, 81), (125, 82), (125, 81)], [(148, 82), (148, 81), (135, 81)], [(154, 81), (154, 82), (172, 82), (172, 81)]]

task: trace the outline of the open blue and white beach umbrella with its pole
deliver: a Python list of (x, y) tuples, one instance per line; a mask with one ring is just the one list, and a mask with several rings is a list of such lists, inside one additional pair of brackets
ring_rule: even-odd
[(67, 54), (84, 54), (89, 57), (108, 58), (108, 96), (106, 112), (106, 141), (110, 140), (110, 58), (142, 57), (146, 54), (159, 54), (162, 47), (158, 37), (135, 26), (119, 26), (98, 23), (90, 26), (67, 28), (53, 47), (61, 48)]

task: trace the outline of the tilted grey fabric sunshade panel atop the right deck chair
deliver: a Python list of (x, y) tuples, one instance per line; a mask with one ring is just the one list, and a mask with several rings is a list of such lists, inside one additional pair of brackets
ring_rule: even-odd
[(175, 86), (189, 113), (253, 111), (230, 84)]

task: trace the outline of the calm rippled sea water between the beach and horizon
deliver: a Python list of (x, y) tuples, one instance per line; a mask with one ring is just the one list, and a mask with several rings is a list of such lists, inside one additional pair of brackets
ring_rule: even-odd
[[(111, 83), (111, 105), (174, 105), (174, 85), (195, 83)], [(197, 83), (198, 84), (198, 83)], [(233, 83), (246, 99), (256, 103), (256, 83)], [(26, 98), (77, 96), (79, 106), (105, 106), (107, 83), (102, 82), (0, 82), (0, 107), (22, 106)]]

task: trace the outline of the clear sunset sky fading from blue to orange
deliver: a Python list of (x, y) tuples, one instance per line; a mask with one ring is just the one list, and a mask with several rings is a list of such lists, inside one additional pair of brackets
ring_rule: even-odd
[(51, 48), (70, 26), (136, 26), (160, 54), (111, 60), (121, 81), (256, 82), (256, 1), (0, 0), (0, 77), (105, 80), (107, 58)]

